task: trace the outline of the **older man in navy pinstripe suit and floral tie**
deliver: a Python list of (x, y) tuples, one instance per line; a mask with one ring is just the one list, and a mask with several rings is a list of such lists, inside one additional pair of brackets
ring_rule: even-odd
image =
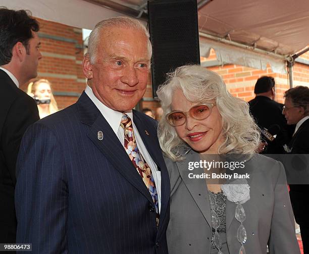
[(146, 90), (148, 36), (132, 18), (99, 22), (85, 91), (26, 132), (17, 240), (32, 253), (167, 253), (170, 184), (156, 121), (132, 110)]

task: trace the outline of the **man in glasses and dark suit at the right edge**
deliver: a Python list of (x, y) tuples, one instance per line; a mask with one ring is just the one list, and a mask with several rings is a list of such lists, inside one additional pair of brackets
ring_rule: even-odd
[[(303, 163), (308, 159), (309, 154), (309, 88), (305, 86), (296, 86), (290, 88), (284, 94), (284, 108), (282, 114), (287, 123), (296, 124), (293, 137), (289, 143), (289, 156), (292, 166), (298, 172), (305, 170), (306, 179), (299, 179), (302, 183), (308, 183), (309, 172), (308, 164)], [(300, 156), (300, 155), (306, 156)], [(298, 155), (298, 156), (297, 156)], [(302, 177), (303, 178), (303, 177)], [(295, 221), (299, 224), (300, 234), (303, 244), (303, 253), (309, 253), (309, 185), (308, 184), (290, 184), (290, 198), (295, 216)]]

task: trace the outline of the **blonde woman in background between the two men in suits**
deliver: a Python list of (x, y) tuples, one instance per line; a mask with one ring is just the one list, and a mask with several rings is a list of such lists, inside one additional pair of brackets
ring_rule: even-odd
[(47, 79), (41, 78), (31, 82), (28, 85), (27, 93), (36, 99), (41, 119), (58, 111), (58, 105), (52, 92), (52, 84)]

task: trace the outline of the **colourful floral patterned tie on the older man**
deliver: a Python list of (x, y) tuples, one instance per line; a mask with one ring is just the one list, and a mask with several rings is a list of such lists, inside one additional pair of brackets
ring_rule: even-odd
[(136, 168), (138, 174), (143, 179), (147, 189), (150, 192), (153, 203), (155, 203), (156, 213), (157, 213), (157, 225), (159, 223), (159, 203), (158, 203), (158, 192), (155, 184), (155, 180), (153, 180), (153, 176), (151, 173), (151, 169), (148, 164), (145, 162), (142, 155), (139, 153), (131, 118), (123, 114), (120, 126), (124, 129), (124, 147), (128, 156), (130, 157), (134, 167)]

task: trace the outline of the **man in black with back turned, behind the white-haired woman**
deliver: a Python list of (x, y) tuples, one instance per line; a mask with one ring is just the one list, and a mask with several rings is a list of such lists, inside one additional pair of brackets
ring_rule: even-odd
[(255, 98), (249, 101), (250, 113), (256, 124), (263, 129), (279, 125), (280, 132), (274, 141), (268, 141), (264, 154), (283, 154), (283, 145), (289, 141), (286, 120), (282, 116), (283, 105), (275, 99), (275, 79), (264, 76), (256, 81), (254, 87)]

